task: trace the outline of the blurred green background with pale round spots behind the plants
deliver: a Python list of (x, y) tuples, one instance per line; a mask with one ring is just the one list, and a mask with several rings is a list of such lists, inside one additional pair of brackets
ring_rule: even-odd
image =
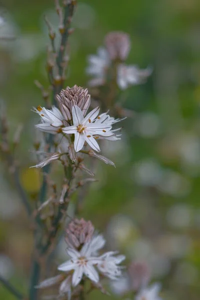
[[(38, 79), (45, 73), (46, 14), (56, 27), (53, 0), (3, 0), (0, 36), (0, 99), (7, 107), (10, 131), (24, 125), (17, 158), (21, 182), (38, 191), (32, 141), (43, 104)], [(109, 249), (127, 261), (144, 261), (151, 280), (162, 284), (163, 299), (200, 296), (200, 2), (199, 0), (78, 1), (70, 37), (66, 84), (86, 86), (86, 57), (103, 44), (110, 30), (130, 34), (128, 63), (150, 65), (147, 83), (121, 92), (134, 117), (123, 121), (121, 141), (104, 154), (116, 169), (98, 162), (98, 182), (90, 186), (83, 216), (104, 232)], [(11, 138), (11, 134), (10, 134)], [(26, 290), (32, 239), (28, 219), (10, 175), (0, 160), (0, 273)], [(57, 261), (65, 259), (58, 247)], [(107, 297), (100, 292), (90, 298)], [(111, 299), (117, 298), (112, 296)], [(0, 299), (13, 296), (0, 287)]]

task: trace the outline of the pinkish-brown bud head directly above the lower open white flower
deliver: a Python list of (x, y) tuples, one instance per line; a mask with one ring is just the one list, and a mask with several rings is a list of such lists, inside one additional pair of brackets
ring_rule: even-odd
[(79, 248), (85, 242), (91, 240), (94, 232), (94, 226), (90, 221), (73, 219), (66, 228), (65, 241), (70, 247)]

